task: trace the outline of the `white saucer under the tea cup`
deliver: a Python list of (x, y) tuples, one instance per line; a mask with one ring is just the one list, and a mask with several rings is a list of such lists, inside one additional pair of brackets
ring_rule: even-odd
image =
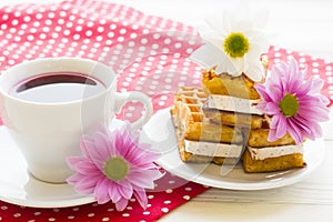
[(33, 178), (4, 127), (0, 127), (0, 200), (33, 208), (64, 208), (94, 202), (92, 196), (78, 194), (69, 184), (46, 183)]

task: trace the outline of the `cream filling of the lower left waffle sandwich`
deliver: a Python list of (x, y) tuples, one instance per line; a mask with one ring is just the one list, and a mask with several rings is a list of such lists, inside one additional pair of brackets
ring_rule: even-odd
[(185, 151), (195, 155), (240, 158), (242, 154), (242, 144), (225, 144), (204, 141), (185, 140)]

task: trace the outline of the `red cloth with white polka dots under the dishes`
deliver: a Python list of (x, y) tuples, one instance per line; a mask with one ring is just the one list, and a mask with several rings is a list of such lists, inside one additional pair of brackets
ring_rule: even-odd
[[(119, 74), (118, 91), (144, 92), (152, 98), (154, 111), (169, 108), (179, 87), (201, 85), (202, 67), (189, 56), (202, 44), (193, 27), (103, 1), (0, 9), (2, 71), (37, 58), (98, 60)], [(323, 93), (333, 101), (333, 63), (278, 47), (271, 47), (266, 57), (270, 65), (290, 57), (306, 64), (310, 74), (325, 80)], [(140, 104), (129, 103), (118, 118), (132, 121), (140, 109)], [(117, 212), (112, 203), (36, 209), (0, 201), (0, 221), (155, 221), (209, 189), (170, 173), (157, 181), (157, 188), (148, 192), (145, 210), (132, 199), (123, 212)]]

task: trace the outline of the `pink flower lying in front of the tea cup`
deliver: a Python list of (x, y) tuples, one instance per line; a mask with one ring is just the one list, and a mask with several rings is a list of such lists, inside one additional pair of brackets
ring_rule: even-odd
[(68, 158), (68, 164), (75, 171), (67, 181), (77, 192), (93, 194), (99, 204), (115, 204), (124, 210), (134, 195), (142, 208), (147, 208), (145, 189), (154, 188), (154, 180), (163, 174), (153, 163), (159, 158), (149, 144), (139, 143), (139, 132), (129, 123), (109, 131), (105, 127), (81, 140), (83, 157)]

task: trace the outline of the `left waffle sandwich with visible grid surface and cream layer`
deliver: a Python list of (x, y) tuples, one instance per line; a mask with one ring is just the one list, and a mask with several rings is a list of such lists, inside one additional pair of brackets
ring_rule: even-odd
[[(212, 161), (222, 164), (226, 158), (230, 159), (229, 154), (232, 153), (231, 159), (234, 161), (228, 162), (235, 163), (243, 148), (242, 133), (232, 127), (212, 123), (205, 118), (202, 112), (205, 101), (206, 93), (202, 88), (182, 87), (174, 95), (171, 115), (180, 157), (184, 162)], [(189, 145), (194, 150), (189, 151)]]

